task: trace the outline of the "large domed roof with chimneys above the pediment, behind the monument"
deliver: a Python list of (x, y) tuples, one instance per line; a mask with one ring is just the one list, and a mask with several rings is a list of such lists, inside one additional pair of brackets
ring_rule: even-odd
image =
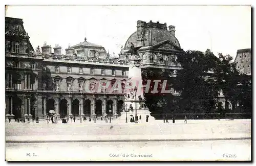
[[(157, 23), (150, 22), (150, 23), (151, 23), (151, 25), (152, 25), (152, 23), (159, 25), (158, 22)], [(124, 45), (124, 49), (129, 49), (131, 46), (131, 42), (134, 44), (135, 47), (137, 47), (137, 46), (152, 46), (152, 45), (155, 45), (155, 44), (160, 43), (165, 40), (169, 40), (172, 43), (174, 43), (176, 46), (178, 46), (178, 48), (181, 48), (179, 40), (174, 35), (175, 29), (172, 29), (173, 32), (172, 32), (172, 30), (167, 31), (166, 23), (160, 24), (160, 26), (165, 25), (165, 27), (160, 27), (160, 26), (149, 27), (149, 26), (147, 26), (148, 24), (149, 23), (145, 23), (145, 27), (144, 27), (143, 45), (141, 45), (141, 43), (137, 42), (137, 31), (136, 31), (127, 39), (127, 41)], [(169, 26), (169, 27), (171, 27), (171, 26)], [(172, 26), (172, 27), (174, 27), (174, 26)]]

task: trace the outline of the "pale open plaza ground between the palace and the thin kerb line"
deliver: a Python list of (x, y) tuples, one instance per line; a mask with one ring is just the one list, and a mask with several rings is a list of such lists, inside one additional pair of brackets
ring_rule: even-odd
[(7, 141), (116, 141), (165, 139), (227, 139), (250, 138), (251, 120), (177, 120), (175, 124), (125, 123), (112, 121), (96, 123), (76, 121), (68, 124), (6, 123)]

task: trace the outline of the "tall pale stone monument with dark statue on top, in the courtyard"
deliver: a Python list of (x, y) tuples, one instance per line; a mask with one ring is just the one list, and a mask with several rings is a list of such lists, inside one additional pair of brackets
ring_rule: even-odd
[[(130, 123), (130, 118), (133, 116), (135, 123), (146, 123), (155, 121), (155, 118), (150, 115), (149, 109), (144, 104), (144, 91), (141, 78), (141, 58), (137, 53), (137, 50), (141, 48), (135, 48), (133, 43), (131, 43), (131, 49), (126, 53), (131, 53), (129, 57), (129, 76), (126, 81), (124, 90), (124, 105), (125, 109), (121, 112), (121, 116), (118, 118), (120, 120), (125, 120), (127, 113), (127, 121)], [(126, 111), (126, 112), (125, 112)], [(141, 119), (140, 119), (141, 117)], [(118, 119), (117, 118), (117, 119)]]

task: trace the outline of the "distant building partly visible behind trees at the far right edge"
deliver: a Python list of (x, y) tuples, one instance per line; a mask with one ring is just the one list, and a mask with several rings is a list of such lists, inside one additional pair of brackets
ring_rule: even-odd
[(251, 75), (251, 49), (238, 50), (234, 62), (237, 62), (237, 69), (240, 73)]

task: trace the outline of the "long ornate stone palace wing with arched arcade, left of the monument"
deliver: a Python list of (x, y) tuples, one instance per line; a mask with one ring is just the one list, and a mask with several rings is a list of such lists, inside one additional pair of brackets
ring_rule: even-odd
[(101, 45), (83, 42), (69, 46), (66, 55), (55, 45), (33, 49), (23, 20), (6, 17), (6, 117), (44, 118), (54, 110), (61, 116), (117, 117), (124, 96), (117, 90), (86, 91), (95, 81), (126, 81), (125, 58), (111, 58)]

